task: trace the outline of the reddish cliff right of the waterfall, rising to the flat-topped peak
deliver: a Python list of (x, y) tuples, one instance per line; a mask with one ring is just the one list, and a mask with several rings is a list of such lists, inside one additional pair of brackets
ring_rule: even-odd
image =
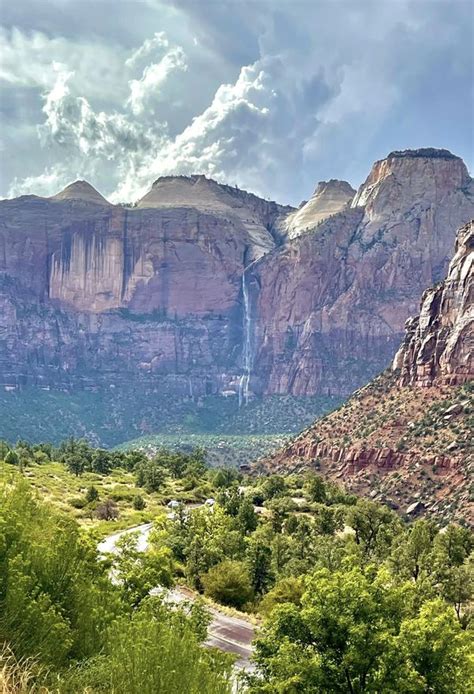
[(352, 202), (248, 271), (255, 392), (349, 394), (381, 371), (425, 287), (474, 216), (462, 160), (443, 150), (376, 162)]

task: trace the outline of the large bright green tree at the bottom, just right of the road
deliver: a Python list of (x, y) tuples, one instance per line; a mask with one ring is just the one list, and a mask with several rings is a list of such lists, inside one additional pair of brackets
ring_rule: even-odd
[(291, 691), (291, 682), (315, 694), (407, 691), (393, 686), (383, 663), (408, 597), (386, 575), (372, 582), (360, 569), (316, 571), (301, 606), (276, 606), (257, 641), (256, 661), (269, 691)]

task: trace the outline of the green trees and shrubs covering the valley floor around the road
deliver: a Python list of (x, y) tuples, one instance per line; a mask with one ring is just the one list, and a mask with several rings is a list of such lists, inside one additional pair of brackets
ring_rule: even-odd
[[(3, 445), (0, 457), (0, 671), (24, 676), (28, 691), (229, 691), (228, 657), (201, 645), (206, 612), (150, 597), (174, 582), (263, 620), (244, 691), (461, 694), (474, 686), (466, 528), (406, 524), (311, 473), (212, 470), (199, 450), (148, 459), (68, 441)], [(62, 483), (100, 478), (98, 497), (88, 483), (81, 492), (95, 512), (117, 474), (130, 501), (116, 502), (118, 519), (74, 518), (78, 509), (66, 514), (57, 490), (40, 501), (31, 488), (50, 466), (62, 468)], [(37, 486), (43, 496), (48, 479)], [(100, 558), (88, 528), (112, 532), (137, 492), (154, 504), (148, 550), (139, 552), (132, 534)], [(165, 512), (170, 492), (176, 503)], [(214, 503), (186, 505), (203, 492)]]

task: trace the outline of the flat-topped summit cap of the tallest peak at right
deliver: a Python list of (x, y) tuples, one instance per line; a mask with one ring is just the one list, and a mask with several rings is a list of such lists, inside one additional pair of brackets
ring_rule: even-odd
[(375, 162), (352, 207), (365, 206), (369, 214), (377, 214), (389, 206), (401, 209), (408, 198), (438, 202), (470, 184), (463, 160), (446, 149), (395, 151)]

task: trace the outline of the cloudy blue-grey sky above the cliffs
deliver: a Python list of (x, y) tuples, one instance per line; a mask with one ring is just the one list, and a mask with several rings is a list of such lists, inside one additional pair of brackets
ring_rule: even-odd
[(472, 0), (0, 0), (0, 196), (205, 174), (284, 204), (394, 149), (474, 167)]

